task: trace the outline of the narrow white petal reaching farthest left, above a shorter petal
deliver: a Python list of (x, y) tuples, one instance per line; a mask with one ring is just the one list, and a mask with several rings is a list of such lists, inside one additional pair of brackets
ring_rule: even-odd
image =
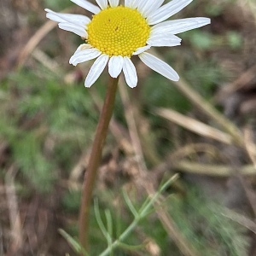
[(72, 24), (87, 25), (90, 19), (84, 15), (71, 15), (71, 14), (60, 14), (55, 13), (51, 9), (44, 9), (47, 12), (46, 17), (56, 22), (68, 22)]

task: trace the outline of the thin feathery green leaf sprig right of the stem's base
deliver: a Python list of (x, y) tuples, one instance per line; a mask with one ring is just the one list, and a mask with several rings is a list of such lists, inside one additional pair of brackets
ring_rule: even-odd
[[(94, 241), (93, 244), (95, 245), (94, 249), (96, 249), (96, 251), (93, 251), (92, 255), (125, 256), (127, 255), (125, 253), (126, 251), (143, 250), (143, 244), (138, 244), (141, 243), (141, 239), (138, 238), (137, 235), (134, 235), (133, 232), (137, 227), (139, 227), (139, 224), (143, 219), (146, 219), (148, 215), (154, 212), (154, 202), (158, 200), (160, 195), (166, 190), (167, 187), (169, 187), (173, 182), (177, 180), (177, 177), (178, 175), (174, 175), (169, 180), (167, 180), (166, 183), (163, 183), (160, 186), (160, 189), (155, 192), (154, 195), (146, 197), (144, 202), (137, 208), (133, 206), (133, 202), (131, 202), (130, 197), (126, 194), (125, 191), (123, 191), (124, 201), (126, 207), (128, 207), (127, 213), (130, 213), (129, 215), (131, 215), (130, 224), (124, 224), (126, 219), (117, 215), (117, 210), (113, 207), (108, 207), (107, 210), (102, 210), (102, 207), (100, 207), (99, 202), (96, 200), (94, 204), (95, 216), (93, 219), (96, 219), (96, 223), (98, 224), (98, 227), (102, 231), (102, 235), (104, 237), (103, 241), (105, 240), (107, 247), (103, 247), (102, 251), (100, 251), (99, 247), (96, 246), (96, 241)], [(120, 226), (122, 226), (121, 229)], [(91, 234), (94, 234), (94, 232), (92, 231)], [(102, 247), (102, 242), (100, 247)]]

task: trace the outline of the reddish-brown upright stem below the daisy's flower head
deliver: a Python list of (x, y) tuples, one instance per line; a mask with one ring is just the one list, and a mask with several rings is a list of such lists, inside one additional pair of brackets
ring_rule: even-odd
[[(82, 198), (79, 212), (79, 241), (81, 247), (89, 253), (89, 219), (90, 202), (94, 184), (96, 181), (97, 169), (102, 159), (102, 148), (107, 137), (108, 125), (113, 113), (114, 99), (117, 91), (119, 78), (110, 78), (105, 101), (102, 107), (99, 123), (96, 128), (96, 137), (92, 145), (89, 164), (84, 174)], [(84, 254), (81, 253), (81, 256)]]

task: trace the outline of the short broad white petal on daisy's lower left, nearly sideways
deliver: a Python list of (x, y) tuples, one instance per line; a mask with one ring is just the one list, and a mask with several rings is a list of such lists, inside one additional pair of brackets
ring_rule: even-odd
[(77, 66), (79, 63), (96, 59), (96, 57), (98, 57), (101, 54), (102, 52), (95, 48), (82, 49), (82, 50), (77, 49), (75, 53), (71, 56), (69, 60), (69, 64), (72, 64), (73, 66)]

